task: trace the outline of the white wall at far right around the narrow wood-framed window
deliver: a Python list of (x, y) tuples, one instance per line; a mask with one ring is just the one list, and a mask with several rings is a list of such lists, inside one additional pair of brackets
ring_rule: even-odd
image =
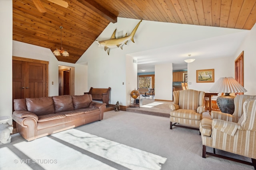
[(252, 27), (246, 39), (239, 49), (233, 61), (244, 51), (244, 88), (247, 90), (244, 94), (256, 95), (256, 25)]

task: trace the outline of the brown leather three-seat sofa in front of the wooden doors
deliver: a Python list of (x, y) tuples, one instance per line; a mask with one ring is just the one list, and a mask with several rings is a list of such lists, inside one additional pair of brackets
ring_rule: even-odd
[(12, 118), (27, 141), (103, 119), (105, 103), (92, 102), (90, 94), (14, 100)]

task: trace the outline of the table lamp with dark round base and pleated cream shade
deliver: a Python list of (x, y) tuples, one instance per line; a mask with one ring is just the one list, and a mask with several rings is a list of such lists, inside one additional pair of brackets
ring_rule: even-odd
[(216, 102), (223, 113), (234, 113), (234, 98), (230, 93), (247, 92), (247, 90), (232, 77), (221, 77), (209, 90), (210, 92), (225, 93), (218, 96)]

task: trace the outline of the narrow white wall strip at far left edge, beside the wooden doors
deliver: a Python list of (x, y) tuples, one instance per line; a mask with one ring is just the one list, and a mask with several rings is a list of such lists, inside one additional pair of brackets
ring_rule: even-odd
[(0, 21), (0, 116), (12, 118), (12, 0), (0, 0)]

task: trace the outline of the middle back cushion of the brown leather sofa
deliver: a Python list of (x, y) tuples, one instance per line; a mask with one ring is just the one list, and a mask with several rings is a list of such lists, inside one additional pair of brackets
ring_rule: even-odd
[(55, 113), (60, 111), (74, 110), (72, 97), (70, 95), (52, 97)]

